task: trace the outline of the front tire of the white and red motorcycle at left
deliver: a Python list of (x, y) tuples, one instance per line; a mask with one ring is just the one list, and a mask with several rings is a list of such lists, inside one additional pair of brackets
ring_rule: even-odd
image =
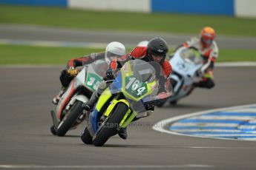
[(76, 119), (82, 114), (82, 111), (82, 101), (75, 101), (68, 113), (59, 123), (59, 126), (56, 129), (56, 135), (59, 137), (65, 136), (68, 130), (72, 127), (73, 123), (75, 123)]

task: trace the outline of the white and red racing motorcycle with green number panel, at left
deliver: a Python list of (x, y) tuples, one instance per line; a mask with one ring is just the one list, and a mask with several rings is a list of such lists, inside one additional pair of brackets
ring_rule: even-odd
[(64, 136), (69, 129), (76, 129), (76, 126), (85, 120), (82, 103), (91, 98), (107, 68), (108, 64), (101, 60), (84, 67), (76, 67), (79, 74), (70, 82), (55, 111), (50, 112), (53, 119), (50, 131), (53, 135)]

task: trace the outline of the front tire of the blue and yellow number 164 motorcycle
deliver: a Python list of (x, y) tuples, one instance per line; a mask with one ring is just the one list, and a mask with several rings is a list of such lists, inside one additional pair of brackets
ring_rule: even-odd
[(125, 103), (118, 103), (116, 109), (111, 113), (108, 120), (102, 123), (96, 135), (93, 136), (94, 146), (104, 145), (109, 137), (117, 134), (116, 126), (119, 126), (119, 123), (122, 118), (124, 118), (127, 111), (128, 106)]

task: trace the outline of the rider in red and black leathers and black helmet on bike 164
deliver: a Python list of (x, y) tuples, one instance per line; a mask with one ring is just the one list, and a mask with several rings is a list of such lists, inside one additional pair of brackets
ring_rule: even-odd
[[(168, 96), (171, 94), (169, 92), (169, 78), (171, 75), (172, 67), (171, 64), (169, 64), (168, 61), (165, 60), (165, 57), (168, 52), (168, 45), (165, 42), (163, 38), (156, 37), (152, 38), (150, 41), (148, 41), (147, 46), (137, 46), (132, 50), (131, 52), (128, 52), (126, 55), (124, 55), (122, 58), (119, 58), (117, 60), (111, 61), (110, 69), (106, 72), (106, 78), (105, 80), (114, 79), (114, 75), (112, 74), (112, 69), (119, 69), (122, 67), (123, 64), (125, 64), (126, 61), (132, 60), (132, 59), (141, 59), (143, 61), (155, 61), (159, 63), (162, 66), (163, 69), (163, 76), (160, 76), (159, 81), (164, 81), (165, 86), (164, 88), (160, 89), (163, 92), (158, 95), (160, 100), (163, 100), (165, 98), (168, 98)], [(162, 80), (161, 80), (162, 79)], [(87, 101), (83, 104), (86, 110), (90, 111), (93, 109), (94, 104), (96, 101), (98, 101), (99, 95), (104, 91), (104, 89), (108, 85), (105, 83), (105, 81), (102, 81), (102, 83), (99, 85), (99, 88), (96, 90), (96, 92), (93, 92), (93, 95), (91, 96), (90, 101)], [(148, 111), (153, 112), (154, 111), (154, 105), (155, 102), (149, 102), (145, 106), (145, 109)], [(151, 113), (148, 112), (148, 115)], [(119, 130), (119, 137), (122, 137), (122, 139), (127, 138), (127, 131), (125, 129)]]

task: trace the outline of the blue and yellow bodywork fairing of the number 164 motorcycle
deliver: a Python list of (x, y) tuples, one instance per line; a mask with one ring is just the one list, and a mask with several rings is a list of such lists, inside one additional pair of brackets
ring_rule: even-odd
[[(145, 62), (145, 61), (142, 61), (142, 62)], [(150, 83), (148, 83), (148, 81), (142, 81), (142, 77), (140, 77), (140, 75), (134, 75), (134, 72), (130, 68), (131, 66), (129, 62), (125, 64), (125, 66), (126, 67), (122, 67), (122, 69), (120, 69), (119, 74), (116, 75), (116, 78), (111, 84), (111, 86), (105, 89), (105, 91), (102, 92), (102, 94), (99, 96), (99, 100), (96, 103), (96, 106), (94, 107), (93, 112), (91, 112), (89, 116), (90, 123), (88, 123), (88, 130), (92, 136), (95, 135), (98, 129), (99, 125), (97, 123), (99, 121), (99, 116), (101, 116), (102, 114), (104, 114), (106, 117), (110, 116), (111, 112), (114, 111), (117, 104), (121, 102), (125, 103), (125, 105), (128, 106), (128, 111), (125, 113), (125, 116), (124, 118), (122, 118), (122, 121), (120, 122), (119, 125), (122, 128), (128, 126), (128, 124), (131, 123), (131, 121), (137, 115), (137, 111), (132, 110), (130, 108), (130, 102), (134, 101), (134, 102), (140, 103), (140, 105), (143, 106), (142, 98), (145, 98), (147, 95), (150, 95), (154, 91), (154, 89), (157, 88), (158, 84), (155, 79), (151, 80)], [(138, 81), (138, 86), (137, 88), (134, 88), (134, 91), (136, 91), (137, 89), (143, 88), (142, 91), (137, 91), (137, 92), (140, 92), (140, 94), (134, 95), (133, 90), (128, 90), (129, 89), (128, 86), (125, 86), (125, 84), (127, 85), (129, 83), (128, 82), (129, 79), (127, 78), (135, 78), (135, 80)], [(131, 82), (131, 84), (133, 84), (133, 82)], [(120, 96), (119, 93), (122, 93), (125, 98), (119, 98)], [(114, 98), (111, 98), (112, 96), (114, 96)], [(150, 100), (153, 100), (153, 98), (148, 97), (148, 100), (146, 101), (150, 101)], [(108, 108), (105, 108), (106, 103), (109, 104)]]

